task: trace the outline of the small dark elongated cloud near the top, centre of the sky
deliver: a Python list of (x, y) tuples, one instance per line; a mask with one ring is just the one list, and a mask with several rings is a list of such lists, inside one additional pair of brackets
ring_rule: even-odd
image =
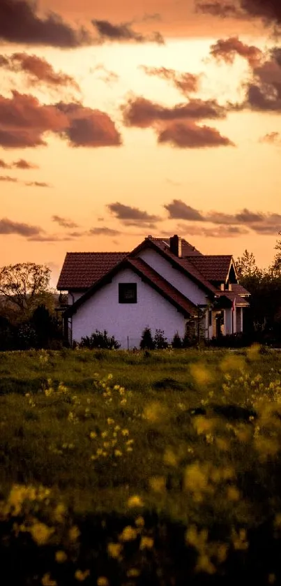
[(109, 20), (92, 20), (93, 26), (97, 29), (101, 41), (135, 41), (136, 43), (158, 43), (164, 44), (164, 39), (159, 32), (149, 35), (137, 33), (131, 28), (131, 22), (112, 24)]

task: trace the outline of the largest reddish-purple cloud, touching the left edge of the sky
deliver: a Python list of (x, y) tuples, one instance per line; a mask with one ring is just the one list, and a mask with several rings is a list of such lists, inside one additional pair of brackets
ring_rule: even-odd
[(29, 94), (0, 95), (0, 146), (24, 148), (47, 145), (46, 133), (55, 133), (74, 147), (121, 145), (112, 119), (81, 103), (41, 104)]

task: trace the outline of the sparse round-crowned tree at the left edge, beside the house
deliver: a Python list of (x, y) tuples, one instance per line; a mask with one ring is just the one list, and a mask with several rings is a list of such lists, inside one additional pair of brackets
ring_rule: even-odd
[(0, 269), (0, 295), (13, 303), (23, 314), (35, 309), (36, 298), (46, 295), (50, 268), (36, 263), (18, 263)]

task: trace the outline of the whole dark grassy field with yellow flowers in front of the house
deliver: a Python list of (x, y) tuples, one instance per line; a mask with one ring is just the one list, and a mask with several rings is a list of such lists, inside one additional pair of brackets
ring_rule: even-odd
[(1, 353), (3, 584), (281, 583), (280, 358)]

